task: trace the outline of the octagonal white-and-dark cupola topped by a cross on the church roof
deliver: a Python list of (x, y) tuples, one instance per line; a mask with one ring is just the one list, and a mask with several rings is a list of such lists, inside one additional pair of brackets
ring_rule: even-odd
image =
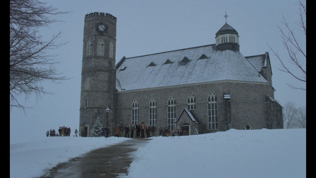
[(239, 36), (238, 32), (228, 25), (227, 15), (225, 12), (226, 23), (215, 34), (216, 48), (218, 50), (234, 50), (239, 51)]

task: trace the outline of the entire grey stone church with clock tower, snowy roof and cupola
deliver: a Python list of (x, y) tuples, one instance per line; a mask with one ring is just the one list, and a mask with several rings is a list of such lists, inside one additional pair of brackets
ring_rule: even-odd
[(269, 53), (243, 56), (227, 23), (214, 32), (215, 44), (116, 63), (117, 18), (93, 12), (84, 20), (79, 135), (89, 137), (97, 118), (110, 136), (116, 124), (138, 122), (188, 135), (283, 128)]

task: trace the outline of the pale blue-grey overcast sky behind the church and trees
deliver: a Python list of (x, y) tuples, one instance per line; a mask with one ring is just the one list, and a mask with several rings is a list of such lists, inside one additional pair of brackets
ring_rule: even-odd
[[(288, 73), (279, 71), (279, 60), (274, 56), (268, 44), (282, 58), (287, 59), (280, 31), (284, 16), (291, 27), (299, 20), (299, 6), (296, 0), (51, 0), (45, 1), (61, 11), (72, 11), (62, 16), (53, 16), (64, 22), (41, 29), (44, 39), (62, 32), (58, 42), (69, 41), (67, 45), (51, 51), (58, 54), (55, 60), (58, 72), (71, 78), (60, 84), (44, 82), (47, 92), (40, 99), (30, 96), (20, 102), (32, 109), (10, 110), (10, 143), (21, 139), (33, 139), (45, 136), (47, 130), (59, 126), (79, 129), (79, 104), (83, 49), (84, 17), (92, 12), (105, 12), (117, 17), (116, 62), (122, 57), (135, 57), (183, 48), (215, 44), (215, 33), (227, 23), (237, 30), (240, 52), (252, 56), (269, 52), (272, 66), (272, 86), (276, 89), (275, 99), (284, 105), (287, 101), (296, 107), (306, 106), (306, 91), (290, 89), (286, 84), (306, 87)], [(295, 31), (302, 47), (305, 47), (305, 35)], [(304, 64), (306, 65), (306, 64)], [(19, 132), (17, 132), (19, 130)], [(21, 131), (25, 133), (21, 136)], [(28, 134), (29, 133), (29, 134)], [(30, 137), (31, 136), (31, 137)]]

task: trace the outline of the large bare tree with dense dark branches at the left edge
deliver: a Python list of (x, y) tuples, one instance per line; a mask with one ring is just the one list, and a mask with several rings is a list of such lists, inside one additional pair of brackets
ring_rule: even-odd
[(52, 6), (46, 6), (38, 0), (10, 0), (10, 109), (27, 108), (18, 101), (19, 95), (26, 97), (35, 93), (37, 97), (46, 92), (40, 82), (50, 80), (59, 83), (66, 80), (58, 73), (52, 60), (56, 55), (48, 54), (66, 43), (57, 43), (61, 32), (53, 35), (51, 40), (42, 41), (38, 29), (48, 27), (58, 20), (54, 15), (66, 14)]

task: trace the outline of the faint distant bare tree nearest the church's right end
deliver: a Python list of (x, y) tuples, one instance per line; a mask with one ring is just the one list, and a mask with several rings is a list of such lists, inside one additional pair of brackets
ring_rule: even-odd
[(296, 128), (296, 108), (293, 102), (288, 101), (283, 107), (283, 127), (284, 129)]

